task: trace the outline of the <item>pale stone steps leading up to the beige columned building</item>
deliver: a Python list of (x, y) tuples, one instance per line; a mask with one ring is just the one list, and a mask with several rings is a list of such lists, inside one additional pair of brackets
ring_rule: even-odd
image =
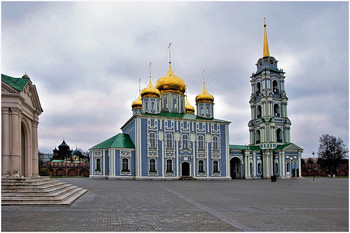
[(1, 205), (71, 205), (85, 192), (48, 177), (1, 178)]

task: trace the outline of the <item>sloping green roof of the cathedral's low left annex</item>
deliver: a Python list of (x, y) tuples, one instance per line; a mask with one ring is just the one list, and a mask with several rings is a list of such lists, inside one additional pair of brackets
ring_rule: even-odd
[(92, 149), (107, 149), (107, 148), (135, 148), (128, 134), (119, 133), (95, 146)]

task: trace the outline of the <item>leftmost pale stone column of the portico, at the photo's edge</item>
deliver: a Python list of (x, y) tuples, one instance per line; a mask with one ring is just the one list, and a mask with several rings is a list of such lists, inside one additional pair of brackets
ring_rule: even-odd
[(1, 108), (1, 175), (10, 172), (10, 115), (9, 108)]

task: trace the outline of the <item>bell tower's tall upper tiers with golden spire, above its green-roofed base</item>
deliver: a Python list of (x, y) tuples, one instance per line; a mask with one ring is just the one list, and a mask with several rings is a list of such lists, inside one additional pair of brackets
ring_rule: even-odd
[(270, 56), (266, 23), (264, 22), (263, 57), (256, 64), (257, 71), (250, 77), (251, 120), (248, 123), (250, 145), (274, 149), (290, 142), (291, 122), (287, 116), (285, 73)]

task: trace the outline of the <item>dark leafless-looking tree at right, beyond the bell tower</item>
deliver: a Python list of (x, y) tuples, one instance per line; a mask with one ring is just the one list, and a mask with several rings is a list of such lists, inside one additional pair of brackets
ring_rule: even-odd
[(343, 139), (329, 134), (322, 134), (319, 142), (318, 162), (322, 168), (328, 169), (331, 175), (335, 175), (339, 164), (345, 159), (348, 149)]

